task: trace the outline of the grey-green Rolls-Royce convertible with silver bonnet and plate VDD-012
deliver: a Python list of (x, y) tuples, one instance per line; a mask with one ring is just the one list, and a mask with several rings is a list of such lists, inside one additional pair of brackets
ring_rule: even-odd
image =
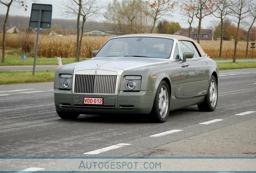
[(56, 69), (59, 117), (80, 114), (147, 114), (165, 122), (169, 111), (197, 105), (214, 111), (218, 66), (194, 40), (169, 34), (109, 39), (94, 57)]

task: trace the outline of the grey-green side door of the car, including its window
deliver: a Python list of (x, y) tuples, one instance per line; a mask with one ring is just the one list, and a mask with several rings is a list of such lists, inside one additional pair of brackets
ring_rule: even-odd
[(179, 41), (180, 52), (193, 52), (194, 57), (187, 59), (183, 64), (185, 69), (183, 95), (185, 97), (195, 97), (206, 93), (206, 75), (204, 58), (196, 50), (194, 44), (190, 41)]

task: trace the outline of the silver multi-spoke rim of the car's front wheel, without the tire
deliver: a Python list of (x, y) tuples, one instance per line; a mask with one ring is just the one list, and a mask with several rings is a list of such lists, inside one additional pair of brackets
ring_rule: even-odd
[(159, 93), (159, 101), (158, 101), (159, 113), (162, 118), (167, 115), (168, 107), (169, 107), (169, 98), (167, 88), (163, 85), (161, 87)]

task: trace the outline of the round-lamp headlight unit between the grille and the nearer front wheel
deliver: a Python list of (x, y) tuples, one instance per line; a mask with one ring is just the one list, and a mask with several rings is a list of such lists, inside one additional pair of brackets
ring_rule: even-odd
[(140, 91), (141, 76), (124, 76), (123, 91)]

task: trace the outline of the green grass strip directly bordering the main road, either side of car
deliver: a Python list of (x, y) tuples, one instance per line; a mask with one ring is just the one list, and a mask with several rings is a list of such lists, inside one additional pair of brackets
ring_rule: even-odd
[[(231, 70), (240, 68), (256, 68), (256, 62), (219, 62), (219, 70)], [(33, 82), (53, 82), (55, 70), (35, 71), (0, 71), (0, 84), (17, 84)]]

